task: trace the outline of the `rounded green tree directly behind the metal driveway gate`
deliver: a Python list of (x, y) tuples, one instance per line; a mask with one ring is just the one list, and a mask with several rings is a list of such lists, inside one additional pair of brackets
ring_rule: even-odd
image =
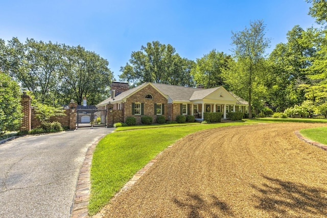
[(82, 46), (61, 47), (59, 78), (60, 93), (64, 102), (74, 99), (82, 104), (84, 96), (89, 105), (95, 105), (108, 97), (113, 74), (108, 61)]

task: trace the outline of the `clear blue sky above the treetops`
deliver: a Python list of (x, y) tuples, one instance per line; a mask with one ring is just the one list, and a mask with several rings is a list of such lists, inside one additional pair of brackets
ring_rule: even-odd
[(107, 59), (116, 80), (131, 53), (147, 42), (171, 44), (195, 61), (213, 49), (231, 54), (231, 32), (250, 21), (264, 20), (271, 39), (267, 53), (287, 42), (295, 25), (316, 26), (304, 0), (10, 0), (1, 7), (1, 39), (80, 44)]

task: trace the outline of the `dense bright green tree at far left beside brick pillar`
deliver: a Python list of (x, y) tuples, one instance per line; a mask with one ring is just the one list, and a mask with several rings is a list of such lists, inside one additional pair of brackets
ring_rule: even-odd
[(21, 124), (20, 95), (18, 84), (0, 71), (0, 136), (17, 130)]

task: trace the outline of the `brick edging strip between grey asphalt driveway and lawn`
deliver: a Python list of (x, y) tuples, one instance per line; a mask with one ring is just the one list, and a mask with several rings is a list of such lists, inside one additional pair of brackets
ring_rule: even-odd
[(87, 149), (82, 167), (79, 172), (76, 191), (74, 196), (74, 204), (72, 208), (72, 218), (86, 218), (88, 215), (88, 200), (90, 197), (90, 167), (92, 163), (93, 152), (99, 141), (105, 135), (98, 138)]

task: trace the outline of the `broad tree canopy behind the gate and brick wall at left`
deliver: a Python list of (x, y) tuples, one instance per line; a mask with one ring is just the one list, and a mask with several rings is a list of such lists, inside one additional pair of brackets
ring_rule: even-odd
[(109, 95), (113, 79), (108, 61), (84, 47), (12, 38), (0, 40), (0, 69), (33, 92), (44, 104), (58, 106), (74, 99), (98, 104)]

